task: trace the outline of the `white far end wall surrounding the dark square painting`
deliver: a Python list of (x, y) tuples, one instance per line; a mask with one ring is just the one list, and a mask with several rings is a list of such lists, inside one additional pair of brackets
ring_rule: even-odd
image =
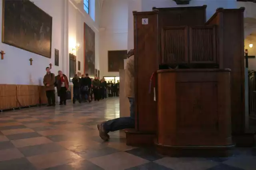
[(127, 50), (128, 0), (105, 0), (100, 19), (100, 75), (119, 76), (108, 72), (108, 51)]

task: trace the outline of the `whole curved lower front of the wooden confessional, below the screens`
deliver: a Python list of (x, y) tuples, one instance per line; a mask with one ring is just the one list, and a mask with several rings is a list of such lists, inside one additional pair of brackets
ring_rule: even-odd
[(158, 70), (157, 99), (161, 153), (232, 146), (229, 69)]

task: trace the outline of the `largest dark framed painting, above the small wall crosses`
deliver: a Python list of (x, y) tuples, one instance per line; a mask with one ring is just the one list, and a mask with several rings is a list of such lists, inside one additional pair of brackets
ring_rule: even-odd
[(30, 0), (3, 0), (2, 42), (51, 58), (52, 17)]

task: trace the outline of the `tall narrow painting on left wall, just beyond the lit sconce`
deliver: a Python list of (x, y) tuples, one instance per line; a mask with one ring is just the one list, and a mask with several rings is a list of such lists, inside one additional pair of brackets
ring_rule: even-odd
[(94, 76), (95, 69), (95, 33), (84, 23), (84, 73)]

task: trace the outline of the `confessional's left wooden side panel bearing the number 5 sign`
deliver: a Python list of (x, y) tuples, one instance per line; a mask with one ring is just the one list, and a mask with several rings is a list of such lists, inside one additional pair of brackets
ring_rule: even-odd
[[(134, 64), (136, 130), (156, 132), (156, 102), (154, 93), (149, 93), (149, 82), (158, 70), (157, 12), (134, 12)], [(143, 25), (142, 19), (148, 18)]]

